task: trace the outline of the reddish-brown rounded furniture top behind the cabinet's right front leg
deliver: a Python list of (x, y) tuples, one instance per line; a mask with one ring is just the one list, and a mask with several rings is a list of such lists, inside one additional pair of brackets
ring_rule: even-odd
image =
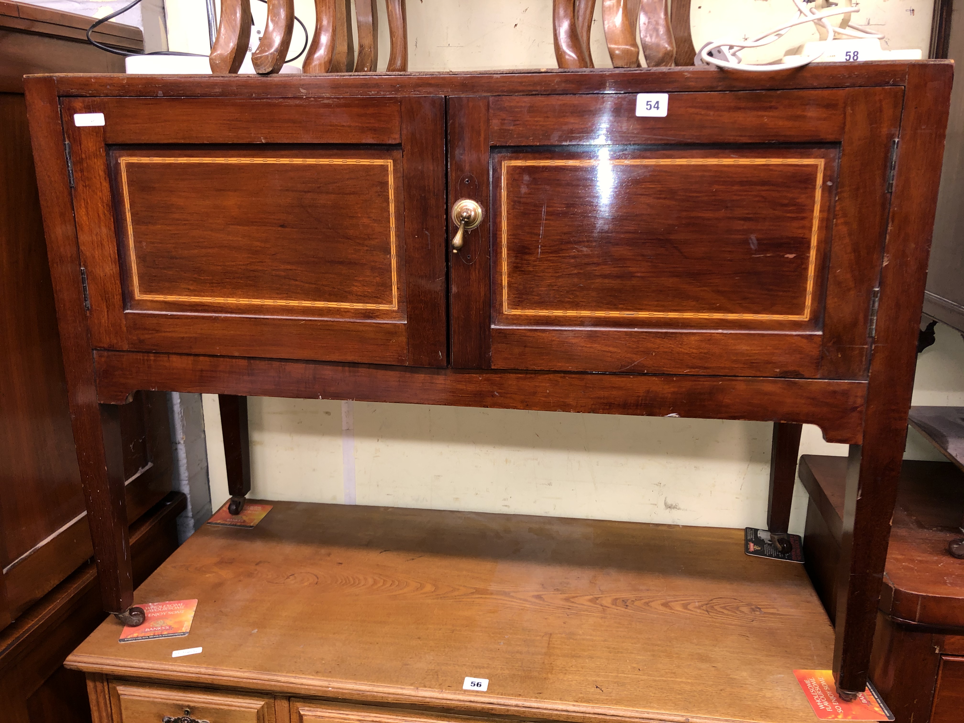
[[(807, 454), (800, 458), (800, 480), (830, 538), (827, 543), (812, 539), (808, 526), (806, 544), (810, 549), (834, 542), (840, 545), (846, 465), (844, 457)], [(903, 463), (881, 612), (912, 623), (964, 627), (964, 560), (948, 554), (948, 543), (960, 536), (962, 519), (964, 473), (946, 462)], [(825, 557), (829, 567), (836, 566), (835, 553)], [(814, 555), (808, 551), (808, 566), (814, 562)], [(828, 604), (833, 601), (829, 588), (834, 578), (833, 570), (817, 571), (815, 575), (817, 585), (826, 589)]]

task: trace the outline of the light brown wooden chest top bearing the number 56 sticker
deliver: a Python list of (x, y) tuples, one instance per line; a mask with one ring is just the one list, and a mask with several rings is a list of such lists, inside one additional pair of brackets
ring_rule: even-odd
[(529, 720), (814, 720), (792, 670), (830, 668), (833, 629), (803, 566), (742, 530), (271, 504), (137, 591), (198, 598), (188, 637), (119, 644), (111, 618), (67, 664)]

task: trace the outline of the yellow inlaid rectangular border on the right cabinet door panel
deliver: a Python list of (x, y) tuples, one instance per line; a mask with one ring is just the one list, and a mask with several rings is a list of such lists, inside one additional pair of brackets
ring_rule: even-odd
[[(807, 267), (806, 292), (803, 309), (797, 314), (768, 314), (768, 313), (716, 313), (711, 311), (648, 311), (648, 310), (603, 310), (603, 309), (569, 309), (569, 308), (512, 308), (509, 304), (509, 205), (510, 199), (508, 174), (510, 168), (525, 167), (597, 167), (602, 176), (606, 167), (613, 166), (813, 166), (816, 182), (813, 201), (813, 224), (810, 232), (809, 264)], [(759, 319), (759, 320), (787, 320), (807, 321), (814, 309), (814, 282), (817, 270), (817, 241), (820, 228), (820, 197), (823, 188), (824, 161), (822, 158), (620, 158), (620, 159), (565, 159), (565, 160), (505, 160), (502, 161), (502, 232), (501, 232), (501, 286), (502, 313), (511, 315), (535, 316), (638, 316), (663, 318), (703, 318), (703, 319)], [(601, 183), (603, 181), (600, 181)], [(609, 183), (615, 183), (614, 178)], [(602, 204), (605, 201), (601, 200)], [(545, 207), (544, 207), (545, 214)], [(542, 219), (545, 228), (545, 217)], [(720, 218), (725, 223), (724, 218)], [(531, 224), (531, 219), (524, 223)], [(567, 239), (550, 239), (552, 242), (568, 241)], [(540, 234), (540, 255), (542, 253), (542, 235)], [(581, 284), (580, 284), (581, 285)]]

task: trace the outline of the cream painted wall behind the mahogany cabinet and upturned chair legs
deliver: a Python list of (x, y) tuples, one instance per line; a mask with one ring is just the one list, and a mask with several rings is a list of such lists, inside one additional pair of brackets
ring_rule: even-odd
[[(598, 6), (592, 51), (604, 67)], [(791, 7), (790, 0), (693, 0), (694, 40), (752, 36)], [(167, 0), (167, 8), (172, 49), (206, 52), (202, 4)], [(892, 48), (926, 48), (931, 8), (861, 3), (864, 22)], [(312, 28), (312, 4), (296, 0), (296, 9)], [(551, 0), (410, 0), (408, 12), (413, 70), (555, 65)], [(384, 67), (384, 17), (380, 29)], [(811, 34), (799, 31), (756, 60)], [(962, 370), (964, 340), (944, 327), (921, 357), (915, 403), (964, 404)], [(215, 397), (205, 396), (204, 415), (217, 508), (228, 489)], [(727, 527), (765, 522), (768, 423), (252, 398), (250, 427), (255, 497)], [(846, 454), (814, 427), (804, 430), (802, 452)], [(938, 459), (913, 432), (908, 455)], [(800, 531), (806, 496), (799, 485), (796, 492), (792, 527)]]

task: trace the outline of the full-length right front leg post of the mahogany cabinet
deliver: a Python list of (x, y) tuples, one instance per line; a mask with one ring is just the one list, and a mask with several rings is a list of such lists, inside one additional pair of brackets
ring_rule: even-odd
[(883, 249), (887, 262), (880, 269), (878, 323), (872, 335), (864, 441), (859, 472), (848, 475), (844, 501), (833, 668), (842, 691), (861, 691), (867, 681), (873, 643), (868, 623), (876, 614), (897, 500), (940, 185), (940, 174), (925, 170), (936, 170), (943, 159), (953, 76), (948, 67), (916, 64), (908, 66), (907, 74)]

